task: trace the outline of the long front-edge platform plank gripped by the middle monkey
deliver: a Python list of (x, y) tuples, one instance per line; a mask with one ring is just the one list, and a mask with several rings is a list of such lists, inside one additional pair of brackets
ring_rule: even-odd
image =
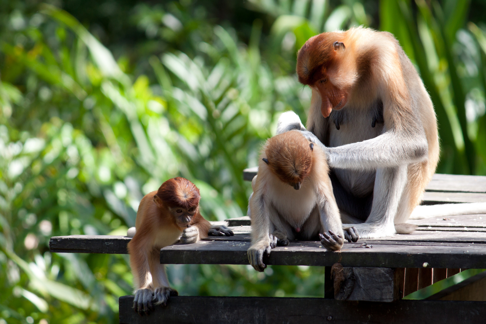
[[(370, 244), (371, 245), (371, 244)], [(373, 243), (373, 248), (361, 248), (359, 243), (345, 243), (341, 251), (319, 248), (319, 242), (291, 242), (276, 247), (269, 257), (269, 265), (345, 267), (421, 268), (424, 263), (434, 268), (486, 268), (484, 245), (410, 245)], [(187, 245), (171, 245), (160, 251), (165, 264), (248, 264), (246, 241), (200, 241)]]

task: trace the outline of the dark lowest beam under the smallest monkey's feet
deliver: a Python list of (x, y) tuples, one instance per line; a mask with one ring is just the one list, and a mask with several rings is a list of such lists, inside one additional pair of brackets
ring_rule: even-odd
[(131, 307), (133, 296), (119, 299), (121, 324), (482, 324), (483, 302), (400, 300), (395, 303), (338, 301), (325, 298), (171, 297), (148, 316)]

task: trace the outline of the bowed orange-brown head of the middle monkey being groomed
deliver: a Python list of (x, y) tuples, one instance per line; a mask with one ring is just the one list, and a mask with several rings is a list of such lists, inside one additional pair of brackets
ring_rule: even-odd
[(295, 189), (299, 189), (312, 169), (313, 143), (293, 130), (267, 140), (266, 159), (270, 170)]

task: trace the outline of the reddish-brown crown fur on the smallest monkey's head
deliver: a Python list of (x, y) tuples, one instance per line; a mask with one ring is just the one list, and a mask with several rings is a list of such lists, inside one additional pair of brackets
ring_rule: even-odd
[(169, 179), (158, 188), (154, 199), (159, 198), (168, 207), (197, 207), (201, 195), (199, 189), (189, 180), (181, 177)]

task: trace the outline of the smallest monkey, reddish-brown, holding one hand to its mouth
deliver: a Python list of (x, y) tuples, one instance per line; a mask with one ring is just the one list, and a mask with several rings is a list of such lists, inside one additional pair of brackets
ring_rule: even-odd
[[(199, 189), (189, 180), (169, 179), (145, 195), (139, 205), (135, 228), (128, 230), (133, 237), (128, 243), (132, 268), (135, 311), (148, 314), (153, 305), (167, 305), (170, 296), (177, 296), (169, 287), (165, 266), (160, 264), (160, 249), (180, 238), (184, 244), (195, 243), (210, 235), (231, 236), (225, 225), (205, 220), (199, 212)], [(136, 230), (135, 230), (136, 229)], [(181, 236), (182, 234), (182, 236)]]

